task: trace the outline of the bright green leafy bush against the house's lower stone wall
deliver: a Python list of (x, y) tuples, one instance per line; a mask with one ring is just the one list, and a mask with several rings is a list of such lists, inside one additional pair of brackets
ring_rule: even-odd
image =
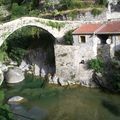
[(91, 59), (88, 61), (88, 67), (95, 72), (103, 72), (104, 63), (101, 59)]

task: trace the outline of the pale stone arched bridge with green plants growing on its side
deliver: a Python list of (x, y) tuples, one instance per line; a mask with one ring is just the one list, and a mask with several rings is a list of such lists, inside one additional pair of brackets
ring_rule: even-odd
[(24, 26), (39, 27), (56, 38), (58, 42), (69, 30), (77, 28), (81, 24), (81, 21), (57, 21), (50, 19), (43, 19), (37, 17), (21, 17), (16, 20), (0, 24), (0, 46), (3, 42), (15, 32)]

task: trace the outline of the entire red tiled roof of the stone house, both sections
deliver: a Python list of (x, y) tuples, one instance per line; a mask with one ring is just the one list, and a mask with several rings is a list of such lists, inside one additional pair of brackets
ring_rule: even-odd
[(83, 24), (73, 34), (120, 34), (120, 21), (112, 21), (104, 24)]

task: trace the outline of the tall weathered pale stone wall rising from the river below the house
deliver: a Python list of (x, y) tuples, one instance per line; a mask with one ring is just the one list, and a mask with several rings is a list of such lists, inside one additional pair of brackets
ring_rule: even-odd
[(94, 86), (92, 70), (87, 67), (87, 61), (95, 58), (93, 52), (91, 47), (85, 45), (55, 45), (56, 76), (59, 78), (59, 82), (63, 85)]

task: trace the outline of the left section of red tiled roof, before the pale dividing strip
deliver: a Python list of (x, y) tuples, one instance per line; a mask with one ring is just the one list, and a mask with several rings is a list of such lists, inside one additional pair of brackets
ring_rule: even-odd
[(77, 28), (73, 34), (93, 34), (102, 24), (83, 24)]

